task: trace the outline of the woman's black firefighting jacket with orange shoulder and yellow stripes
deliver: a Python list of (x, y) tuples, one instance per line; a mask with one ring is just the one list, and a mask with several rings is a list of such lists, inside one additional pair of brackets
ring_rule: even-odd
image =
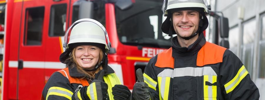
[[(54, 72), (45, 84), (41, 99), (72, 100), (72, 98), (76, 98), (74, 96), (77, 94), (78, 90), (84, 86), (89, 86), (91, 82), (86, 79), (81, 79), (82, 77), (84, 77), (84, 74), (77, 72), (76, 67), (67, 67)], [(114, 70), (109, 66), (103, 78), (108, 85), (108, 96), (110, 100), (114, 100), (111, 88), (114, 87), (115, 84), (120, 84), (120, 80), (114, 73)]]

